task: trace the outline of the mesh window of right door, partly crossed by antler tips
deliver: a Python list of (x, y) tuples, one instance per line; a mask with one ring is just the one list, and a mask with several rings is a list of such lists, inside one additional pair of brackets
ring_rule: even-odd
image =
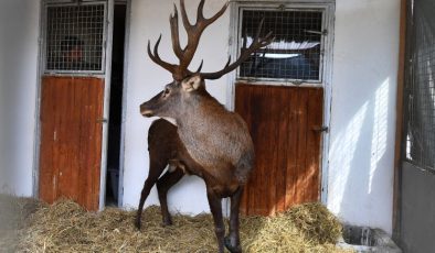
[(241, 37), (247, 45), (264, 18), (262, 35), (275, 41), (244, 62), (241, 78), (321, 79), (322, 12), (315, 10), (243, 10)]

